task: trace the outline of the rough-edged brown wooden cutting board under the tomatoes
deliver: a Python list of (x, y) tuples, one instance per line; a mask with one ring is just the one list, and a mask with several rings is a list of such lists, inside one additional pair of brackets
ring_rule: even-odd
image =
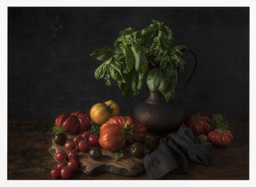
[[(127, 147), (126, 147), (127, 148)], [(52, 146), (49, 152), (55, 159), (57, 152), (63, 151), (64, 146), (55, 144), (52, 139)], [(114, 152), (101, 149), (100, 160), (93, 160), (88, 152), (78, 152), (78, 160), (80, 161), (81, 171), (85, 175), (98, 175), (100, 173), (113, 173), (116, 175), (138, 175), (144, 171), (143, 160), (137, 159), (125, 152), (124, 148), (124, 159), (116, 162), (114, 158)]]

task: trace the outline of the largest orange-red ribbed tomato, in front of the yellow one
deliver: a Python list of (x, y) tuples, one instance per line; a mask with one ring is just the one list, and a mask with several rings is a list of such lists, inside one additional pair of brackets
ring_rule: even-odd
[(130, 116), (116, 116), (110, 118), (100, 128), (100, 146), (116, 152), (125, 143), (142, 142), (147, 135), (147, 129)]

